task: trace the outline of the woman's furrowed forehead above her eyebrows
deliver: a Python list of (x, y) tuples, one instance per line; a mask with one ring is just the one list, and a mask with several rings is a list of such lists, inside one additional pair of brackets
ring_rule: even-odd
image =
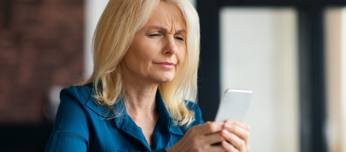
[(153, 26), (186, 30), (185, 20), (180, 8), (172, 3), (166, 2), (158, 3), (145, 25), (145, 27)]

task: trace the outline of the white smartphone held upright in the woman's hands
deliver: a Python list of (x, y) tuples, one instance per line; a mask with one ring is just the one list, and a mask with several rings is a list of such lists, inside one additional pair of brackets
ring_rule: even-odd
[(252, 97), (251, 90), (227, 89), (222, 96), (215, 121), (227, 119), (243, 121)]

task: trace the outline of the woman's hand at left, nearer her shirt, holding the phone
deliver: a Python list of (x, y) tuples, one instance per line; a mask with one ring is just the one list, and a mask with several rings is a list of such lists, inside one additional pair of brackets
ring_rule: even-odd
[(220, 143), (225, 140), (220, 131), (224, 123), (206, 122), (201, 125), (191, 127), (185, 135), (175, 145), (166, 149), (167, 152), (204, 152), (204, 151), (222, 151), (225, 150)]

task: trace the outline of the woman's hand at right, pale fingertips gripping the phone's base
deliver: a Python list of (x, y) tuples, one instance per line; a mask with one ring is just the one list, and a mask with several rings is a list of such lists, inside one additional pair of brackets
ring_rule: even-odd
[(250, 125), (237, 120), (228, 119), (221, 135), (226, 139), (221, 142), (227, 152), (247, 152), (250, 149)]

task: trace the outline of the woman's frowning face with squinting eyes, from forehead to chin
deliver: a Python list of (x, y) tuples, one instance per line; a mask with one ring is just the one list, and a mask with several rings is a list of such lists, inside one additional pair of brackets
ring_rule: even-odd
[(173, 80), (184, 61), (186, 25), (173, 4), (160, 2), (135, 34), (122, 60), (124, 77), (164, 83)]

